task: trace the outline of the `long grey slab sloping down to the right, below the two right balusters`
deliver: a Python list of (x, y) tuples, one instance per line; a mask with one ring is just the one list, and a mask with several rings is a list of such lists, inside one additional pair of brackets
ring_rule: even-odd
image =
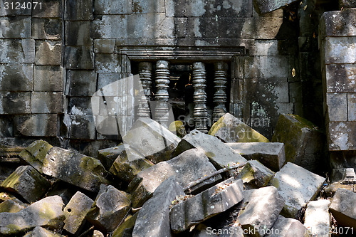
[(228, 145), (221, 142), (216, 137), (206, 135), (204, 132), (199, 132), (198, 130), (193, 130), (182, 138), (179, 142), (177, 149), (173, 152), (172, 156), (177, 156), (184, 151), (192, 148), (203, 149), (206, 157), (209, 157), (211, 163), (217, 169), (222, 169), (227, 167), (229, 164), (245, 164), (246, 159), (241, 157), (241, 154), (231, 149)]

